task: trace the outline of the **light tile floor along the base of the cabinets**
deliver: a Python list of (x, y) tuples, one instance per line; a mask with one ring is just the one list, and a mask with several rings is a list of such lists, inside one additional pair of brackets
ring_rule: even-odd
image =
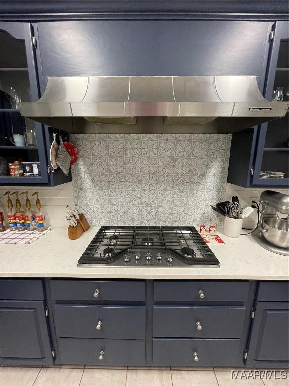
[[(228, 367), (0, 367), (0, 386), (287, 386), (287, 379), (232, 379)], [(249, 374), (246, 369), (246, 373)], [(264, 369), (261, 369), (261, 371)], [(272, 371), (272, 369), (269, 369)], [(280, 377), (280, 369), (277, 369)]]

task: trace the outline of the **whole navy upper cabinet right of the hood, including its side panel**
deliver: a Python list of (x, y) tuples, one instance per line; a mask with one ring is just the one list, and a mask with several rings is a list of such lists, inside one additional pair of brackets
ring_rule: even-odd
[[(272, 100), (278, 88), (283, 93), (283, 101), (289, 101), (289, 22), (277, 22), (274, 26), (264, 96)], [(260, 178), (261, 171), (285, 175), (276, 179)], [(228, 182), (244, 187), (288, 187), (288, 113), (258, 128), (233, 133)]]

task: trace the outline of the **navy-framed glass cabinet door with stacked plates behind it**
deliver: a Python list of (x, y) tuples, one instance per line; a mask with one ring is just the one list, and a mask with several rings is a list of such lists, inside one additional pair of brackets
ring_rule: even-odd
[[(289, 22), (276, 23), (265, 97), (289, 101)], [(289, 186), (288, 112), (261, 125), (255, 160), (253, 185)]]

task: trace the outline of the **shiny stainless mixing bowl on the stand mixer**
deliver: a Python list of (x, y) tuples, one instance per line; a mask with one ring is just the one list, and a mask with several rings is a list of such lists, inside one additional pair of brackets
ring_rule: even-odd
[(289, 248), (289, 231), (287, 229), (287, 221), (274, 217), (269, 217), (263, 220), (262, 234), (264, 238), (271, 244), (281, 248)]

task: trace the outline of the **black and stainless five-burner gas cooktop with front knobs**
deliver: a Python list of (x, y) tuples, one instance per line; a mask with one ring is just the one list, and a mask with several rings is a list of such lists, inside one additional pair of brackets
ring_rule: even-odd
[(103, 226), (77, 266), (219, 267), (195, 227)]

